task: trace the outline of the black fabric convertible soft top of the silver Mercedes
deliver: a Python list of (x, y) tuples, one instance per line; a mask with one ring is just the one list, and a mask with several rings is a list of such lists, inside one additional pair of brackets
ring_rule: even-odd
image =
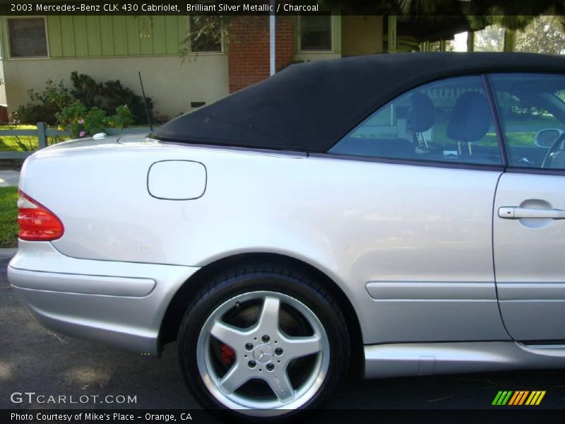
[(375, 54), (295, 64), (160, 126), (160, 141), (323, 153), (397, 95), (446, 76), (565, 73), (565, 58), (525, 53)]

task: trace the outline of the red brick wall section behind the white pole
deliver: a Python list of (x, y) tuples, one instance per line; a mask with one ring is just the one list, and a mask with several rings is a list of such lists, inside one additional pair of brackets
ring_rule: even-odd
[[(278, 16), (276, 23), (278, 70), (295, 58), (295, 20), (292, 16)], [(227, 57), (230, 93), (268, 78), (268, 16), (234, 16), (230, 22)]]

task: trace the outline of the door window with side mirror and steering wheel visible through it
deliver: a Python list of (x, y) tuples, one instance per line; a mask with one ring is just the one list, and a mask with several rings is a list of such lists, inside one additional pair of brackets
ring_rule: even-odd
[(565, 169), (565, 76), (489, 77), (510, 167)]

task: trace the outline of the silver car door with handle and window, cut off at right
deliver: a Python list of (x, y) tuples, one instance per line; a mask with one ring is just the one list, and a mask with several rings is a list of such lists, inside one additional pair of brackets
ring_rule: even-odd
[(517, 341), (564, 341), (565, 76), (489, 78), (508, 155), (494, 202), (501, 316)]

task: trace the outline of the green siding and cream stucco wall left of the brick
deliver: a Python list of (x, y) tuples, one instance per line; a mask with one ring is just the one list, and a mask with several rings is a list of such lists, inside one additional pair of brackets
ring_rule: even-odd
[(0, 18), (8, 112), (28, 102), (28, 90), (42, 90), (48, 79), (69, 82), (71, 71), (97, 81), (119, 80), (140, 95), (141, 71), (156, 116), (174, 117), (191, 110), (191, 102), (209, 103), (228, 93), (225, 52), (180, 57), (187, 16), (47, 16), (45, 22), (48, 57), (12, 59), (7, 18)]

